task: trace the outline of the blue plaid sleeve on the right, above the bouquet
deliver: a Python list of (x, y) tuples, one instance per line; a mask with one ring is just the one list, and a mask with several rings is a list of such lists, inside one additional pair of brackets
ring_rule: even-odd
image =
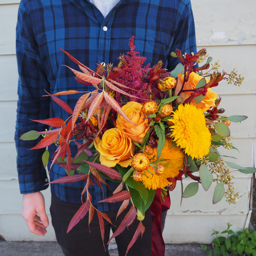
[[(195, 22), (190, 0), (182, 0), (179, 4), (174, 40), (170, 53), (175, 52), (176, 49), (180, 49), (182, 54), (185, 52), (197, 52)], [(173, 70), (178, 63), (180, 63), (178, 58), (169, 55), (168, 70)]]

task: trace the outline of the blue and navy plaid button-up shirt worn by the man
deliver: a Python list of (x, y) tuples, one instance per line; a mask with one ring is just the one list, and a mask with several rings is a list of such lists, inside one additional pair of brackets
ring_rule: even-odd
[[(62, 65), (77, 69), (58, 47), (66, 50), (87, 67), (95, 69), (104, 61), (117, 65), (120, 53), (129, 51), (128, 42), (135, 36), (136, 50), (151, 66), (159, 60), (172, 70), (177, 58), (170, 52), (196, 52), (195, 26), (190, 0), (120, 0), (106, 18), (88, 0), (21, 0), (17, 20), (17, 64), (19, 72), (17, 124), (15, 142), (20, 192), (32, 193), (46, 189), (47, 175), (42, 165), (43, 150), (28, 150), (37, 142), (22, 141), (21, 134), (44, 131), (45, 125), (30, 119), (61, 117), (63, 111), (45, 91), (89, 91), (78, 84), (73, 73)], [(79, 95), (61, 96), (74, 107)], [(53, 146), (49, 147), (52, 154)], [(65, 176), (64, 169), (54, 165), (51, 180)], [(52, 184), (52, 192), (61, 200), (81, 202), (84, 182)], [(105, 195), (106, 187), (104, 186)], [(90, 190), (94, 203), (102, 199), (98, 186)], [(108, 210), (108, 204), (99, 204)]]

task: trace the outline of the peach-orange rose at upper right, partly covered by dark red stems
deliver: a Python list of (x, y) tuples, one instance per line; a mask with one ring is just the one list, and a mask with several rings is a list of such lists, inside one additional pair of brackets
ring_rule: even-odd
[[(189, 81), (187, 81), (184, 84), (183, 90), (191, 90), (195, 89), (197, 86), (198, 82), (202, 79), (202, 76), (199, 76), (195, 72), (191, 72), (189, 75)], [(178, 74), (178, 81), (177, 81), (177, 86), (175, 88), (175, 95), (177, 95), (181, 89), (182, 83), (183, 83), (184, 75)], [(209, 82), (209, 79), (206, 79), (207, 83)], [(184, 92), (180, 93), (179, 99), (177, 99), (177, 103), (183, 103), (187, 98), (189, 98), (190, 92)], [(195, 105), (197, 108), (201, 108), (203, 111), (207, 111), (211, 107), (215, 107), (215, 99), (218, 98), (217, 93), (212, 91), (210, 88), (207, 89), (207, 93), (205, 98), (201, 101), (195, 104), (195, 99), (192, 100), (190, 105)]]

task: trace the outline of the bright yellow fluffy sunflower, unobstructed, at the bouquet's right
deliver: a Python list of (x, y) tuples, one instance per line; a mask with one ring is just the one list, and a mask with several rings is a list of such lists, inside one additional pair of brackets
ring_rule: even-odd
[(180, 104), (172, 115), (172, 138), (185, 153), (200, 159), (209, 153), (211, 134), (204, 113), (193, 105)]

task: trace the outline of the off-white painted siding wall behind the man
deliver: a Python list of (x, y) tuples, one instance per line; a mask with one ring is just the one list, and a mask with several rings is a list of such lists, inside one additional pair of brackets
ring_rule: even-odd
[[(229, 151), (241, 166), (253, 166), (256, 145), (256, 84), (254, 60), (256, 59), (256, 2), (255, 0), (191, 0), (199, 48), (207, 48), (221, 68), (234, 67), (244, 77), (241, 87), (222, 84), (215, 91), (222, 97), (222, 107), (227, 115), (241, 114), (249, 118), (241, 124), (232, 124), (233, 142), (239, 148)], [(14, 144), (17, 67), (15, 57), (15, 26), (19, 0), (0, 0), (0, 235), (8, 241), (55, 240), (52, 227), (47, 236), (29, 233), (21, 217), (22, 196), (19, 194)], [(183, 199), (180, 207), (180, 186), (171, 192), (171, 209), (166, 219), (166, 242), (185, 243), (212, 240), (212, 230), (224, 230), (227, 222), (233, 230), (244, 228), (249, 212), (250, 175), (236, 174), (234, 179), (241, 199), (235, 205), (224, 200), (212, 205), (212, 193), (200, 189), (193, 198)], [(187, 181), (184, 181), (186, 185)], [(49, 209), (49, 189), (44, 191)], [(49, 213), (49, 210), (47, 210)]]

